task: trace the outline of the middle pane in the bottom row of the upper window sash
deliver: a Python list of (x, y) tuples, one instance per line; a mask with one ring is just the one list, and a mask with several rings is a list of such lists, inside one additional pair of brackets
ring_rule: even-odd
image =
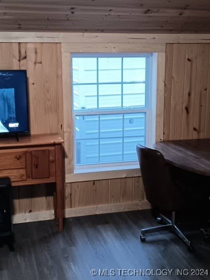
[(99, 108), (121, 108), (121, 84), (99, 85)]

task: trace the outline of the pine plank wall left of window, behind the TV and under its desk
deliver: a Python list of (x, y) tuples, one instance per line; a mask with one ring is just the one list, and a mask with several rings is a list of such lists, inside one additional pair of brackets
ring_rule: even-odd
[[(0, 69), (26, 69), (31, 134), (62, 135), (60, 44), (1, 43)], [(52, 185), (13, 188), (14, 214), (53, 209)]]

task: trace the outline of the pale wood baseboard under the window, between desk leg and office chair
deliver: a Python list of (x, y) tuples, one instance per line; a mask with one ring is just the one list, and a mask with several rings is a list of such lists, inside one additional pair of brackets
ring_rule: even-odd
[(150, 209), (148, 201), (125, 202), (65, 209), (65, 218)]

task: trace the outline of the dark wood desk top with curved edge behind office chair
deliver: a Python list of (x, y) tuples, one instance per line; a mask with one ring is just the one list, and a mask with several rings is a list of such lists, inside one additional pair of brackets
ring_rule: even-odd
[(210, 139), (174, 140), (154, 144), (166, 162), (185, 170), (210, 176)]

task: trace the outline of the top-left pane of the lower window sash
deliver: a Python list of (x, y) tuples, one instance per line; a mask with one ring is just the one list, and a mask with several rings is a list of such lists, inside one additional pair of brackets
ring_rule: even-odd
[(99, 116), (76, 116), (75, 117), (76, 139), (99, 138)]

